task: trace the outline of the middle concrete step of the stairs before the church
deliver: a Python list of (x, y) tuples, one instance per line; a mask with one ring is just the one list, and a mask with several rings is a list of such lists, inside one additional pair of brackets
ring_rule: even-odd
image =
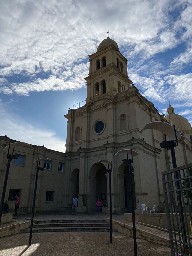
[(109, 224), (106, 222), (72, 222), (72, 223), (38, 223), (34, 224), (34, 228), (42, 228), (42, 227), (108, 227)]

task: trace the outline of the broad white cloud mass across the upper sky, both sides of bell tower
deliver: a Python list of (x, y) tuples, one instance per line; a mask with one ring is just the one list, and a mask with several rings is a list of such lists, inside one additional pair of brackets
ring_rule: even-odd
[[(175, 8), (180, 13), (173, 19), (169, 13)], [(172, 98), (174, 106), (192, 106), (191, 74), (181, 74), (182, 64), (192, 58), (191, 0), (174, 5), (172, 0), (1, 1), (0, 22), (0, 93), (29, 96), (85, 86), (87, 54), (96, 52), (109, 29), (132, 62), (130, 79), (150, 100), (166, 103)], [(185, 51), (167, 69), (151, 60), (183, 42)], [(28, 81), (9, 83), (12, 75), (27, 76)]]

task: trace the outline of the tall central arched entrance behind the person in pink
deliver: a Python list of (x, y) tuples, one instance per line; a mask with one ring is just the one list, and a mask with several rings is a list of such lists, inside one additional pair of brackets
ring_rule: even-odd
[[(96, 211), (96, 201), (100, 198), (103, 203), (107, 203), (107, 177), (105, 166), (102, 163), (93, 164), (89, 171), (88, 179), (88, 211)], [(103, 198), (103, 199), (102, 199)]]

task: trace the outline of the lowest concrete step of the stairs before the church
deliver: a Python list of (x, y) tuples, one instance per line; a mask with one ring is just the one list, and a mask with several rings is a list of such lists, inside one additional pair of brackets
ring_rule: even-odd
[[(21, 230), (20, 233), (29, 233), (30, 228)], [(109, 232), (109, 227), (47, 227), (33, 228), (34, 233), (39, 232)]]

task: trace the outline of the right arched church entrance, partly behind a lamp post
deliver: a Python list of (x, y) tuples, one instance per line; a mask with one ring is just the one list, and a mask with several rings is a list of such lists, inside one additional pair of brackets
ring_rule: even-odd
[[(133, 178), (133, 191), (135, 193), (135, 181), (134, 181), (134, 169), (132, 166), (132, 178)], [(126, 212), (131, 213), (131, 187), (130, 187), (130, 175), (129, 166), (122, 164), (119, 167), (119, 194), (120, 194), (120, 208), (126, 209)], [(134, 196), (134, 206), (136, 208), (136, 200)]]

